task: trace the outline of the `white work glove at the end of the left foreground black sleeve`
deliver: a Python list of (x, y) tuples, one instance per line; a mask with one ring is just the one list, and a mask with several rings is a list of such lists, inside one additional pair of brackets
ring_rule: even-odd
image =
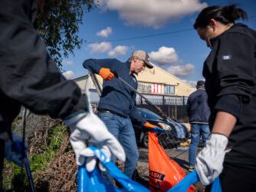
[[(87, 147), (93, 145), (101, 148), (101, 151), (111, 159), (114, 154), (120, 161), (125, 162), (125, 151), (118, 140), (108, 132), (105, 124), (94, 113), (81, 113), (74, 118), (65, 121), (71, 129), (69, 141), (75, 152), (76, 163), (82, 165), (86, 161), (86, 169), (90, 172), (95, 169), (96, 157), (93, 151)], [(105, 170), (100, 166), (101, 170)]]

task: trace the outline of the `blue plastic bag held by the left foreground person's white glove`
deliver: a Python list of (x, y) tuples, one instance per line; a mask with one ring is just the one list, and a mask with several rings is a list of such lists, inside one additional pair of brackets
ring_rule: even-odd
[[(98, 170), (98, 167), (95, 167), (94, 170), (88, 172), (85, 168), (85, 164), (78, 167), (78, 192), (109, 192), (109, 191), (140, 191), (140, 192), (149, 192), (149, 190), (142, 186), (141, 184), (136, 183), (134, 180), (131, 180), (121, 170), (116, 167), (112, 161), (108, 161), (105, 154), (98, 148), (90, 146), (90, 149), (95, 152), (95, 156), (101, 161), (108, 171), (109, 174), (123, 188), (114, 187), (113, 185), (106, 184), (103, 177), (101, 177), (101, 171)], [(108, 161), (108, 162), (107, 162)]]

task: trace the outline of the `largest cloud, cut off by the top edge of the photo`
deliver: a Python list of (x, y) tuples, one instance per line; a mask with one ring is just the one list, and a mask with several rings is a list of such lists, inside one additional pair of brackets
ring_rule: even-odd
[(101, 8), (116, 10), (128, 25), (145, 25), (159, 28), (167, 22), (207, 6), (199, 0), (101, 0)]

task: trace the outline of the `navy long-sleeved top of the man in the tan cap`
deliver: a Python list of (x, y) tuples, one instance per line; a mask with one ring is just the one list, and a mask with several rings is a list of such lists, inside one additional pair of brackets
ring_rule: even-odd
[[(106, 59), (88, 59), (85, 60), (83, 66), (89, 71), (98, 74), (101, 68), (110, 68), (115, 71), (118, 76), (130, 84), (133, 88), (138, 88), (138, 82), (134, 74), (129, 74), (131, 62), (121, 62), (115, 58)], [(122, 116), (131, 118), (141, 125), (145, 123), (144, 118), (136, 107), (136, 93), (128, 88), (118, 79), (113, 78), (111, 81), (103, 81), (103, 89), (98, 108), (115, 111)]]

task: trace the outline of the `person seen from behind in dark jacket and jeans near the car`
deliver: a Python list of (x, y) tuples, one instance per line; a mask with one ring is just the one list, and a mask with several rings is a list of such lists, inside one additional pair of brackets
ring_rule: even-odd
[(198, 81), (196, 87), (197, 91), (189, 95), (187, 104), (188, 118), (191, 124), (191, 144), (188, 153), (189, 171), (194, 170), (195, 157), (201, 137), (205, 147), (205, 142), (210, 134), (208, 125), (210, 108), (207, 103), (208, 96), (204, 89), (204, 81)]

